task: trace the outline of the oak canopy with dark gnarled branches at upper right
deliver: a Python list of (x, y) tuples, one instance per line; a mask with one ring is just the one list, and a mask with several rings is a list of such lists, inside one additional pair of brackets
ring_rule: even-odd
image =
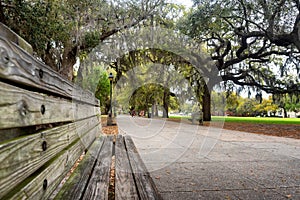
[(195, 0), (179, 29), (206, 45), (224, 81), (300, 90), (298, 0)]

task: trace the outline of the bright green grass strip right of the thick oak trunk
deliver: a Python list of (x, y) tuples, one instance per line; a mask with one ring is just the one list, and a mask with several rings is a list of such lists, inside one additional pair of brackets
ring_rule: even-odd
[(213, 116), (212, 121), (256, 123), (256, 124), (299, 124), (300, 118), (276, 118), (276, 117), (218, 117)]

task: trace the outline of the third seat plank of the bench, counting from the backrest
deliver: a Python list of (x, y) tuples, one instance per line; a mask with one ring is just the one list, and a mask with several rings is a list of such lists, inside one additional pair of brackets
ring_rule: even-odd
[(115, 199), (139, 199), (124, 145), (124, 139), (120, 135), (116, 138), (115, 155)]

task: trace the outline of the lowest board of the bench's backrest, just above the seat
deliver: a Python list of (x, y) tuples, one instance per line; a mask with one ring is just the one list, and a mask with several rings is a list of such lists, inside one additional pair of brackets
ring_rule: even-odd
[[(70, 171), (84, 150), (85, 146), (78, 140), (68, 150), (64, 150), (59, 157), (26, 184), (25, 187), (13, 191), (14, 195), (10, 199), (49, 199), (52, 192)], [(45, 180), (47, 181), (47, 188), (43, 189)]]

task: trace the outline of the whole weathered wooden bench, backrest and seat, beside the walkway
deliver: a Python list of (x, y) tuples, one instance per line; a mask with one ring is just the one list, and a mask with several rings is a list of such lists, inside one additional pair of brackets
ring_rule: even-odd
[(101, 134), (94, 94), (0, 25), (0, 199), (108, 199), (113, 157), (116, 199), (159, 199), (131, 138)]

